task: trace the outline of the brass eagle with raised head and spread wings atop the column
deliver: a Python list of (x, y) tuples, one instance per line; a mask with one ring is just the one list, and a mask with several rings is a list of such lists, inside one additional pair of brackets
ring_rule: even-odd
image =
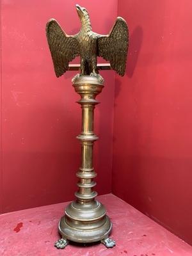
[(99, 35), (92, 31), (86, 8), (76, 4), (76, 10), (82, 24), (76, 35), (67, 35), (55, 19), (47, 22), (46, 35), (56, 76), (63, 75), (76, 56), (80, 56), (81, 75), (97, 76), (97, 56), (101, 56), (110, 62), (113, 70), (124, 76), (129, 43), (125, 20), (117, 17), (109, 35)]

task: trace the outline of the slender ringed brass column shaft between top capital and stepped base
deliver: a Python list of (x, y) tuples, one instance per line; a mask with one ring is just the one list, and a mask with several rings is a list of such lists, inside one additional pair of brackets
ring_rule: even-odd
[(93, 178), (96, 173), (93, 170), (93, 141), (97, 140), (97, 136), (93, 134), (93, 116), (95, 104), (98, 102), (93, 100), (92, 95), (81, 95), (78, 101), (82, 108), (82, 131), (77, 138), (81, 141), (81, 167), (77, 173), (79, 187), (76, 197), (79, 202), (89, 202), (97, 196), (97, 192), (93, 191), (96, 182)]

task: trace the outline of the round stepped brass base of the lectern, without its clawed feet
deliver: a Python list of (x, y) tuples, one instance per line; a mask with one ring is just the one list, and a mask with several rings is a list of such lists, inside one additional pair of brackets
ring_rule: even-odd
[(109, 236), (111, 228), (106, 209), (97, 200), (86, 204), (72, 202), (59, 223), (61, 236), (76, 243), (102, 241)]

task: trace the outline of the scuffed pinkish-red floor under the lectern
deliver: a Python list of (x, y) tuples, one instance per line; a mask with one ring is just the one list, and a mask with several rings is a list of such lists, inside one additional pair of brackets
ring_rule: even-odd
[(58, 221), (68, 203), (0, 216), (1, 256), (191, 256), (192, 247), (114, 195), (98, 196), (113, 222), (116, 246), (103, 244), (57, 250)]

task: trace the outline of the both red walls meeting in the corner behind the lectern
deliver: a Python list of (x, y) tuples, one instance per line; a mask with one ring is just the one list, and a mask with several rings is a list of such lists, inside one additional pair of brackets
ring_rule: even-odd
[[(70, 82), (75, 73), (54, 75), (45, 23), (54, 17), (76, 33), (75, 4), (2, 0), (0, 213), (74, 198), (81, 109)], [(93, 30), (108, 33), (117, 14), (130, 30), (125, 77), (102, 73), (97, 191), (111, 191), (113, 148), (113, 193), (192, 244), (192, 3), (79, 4), (88, 8)]]

